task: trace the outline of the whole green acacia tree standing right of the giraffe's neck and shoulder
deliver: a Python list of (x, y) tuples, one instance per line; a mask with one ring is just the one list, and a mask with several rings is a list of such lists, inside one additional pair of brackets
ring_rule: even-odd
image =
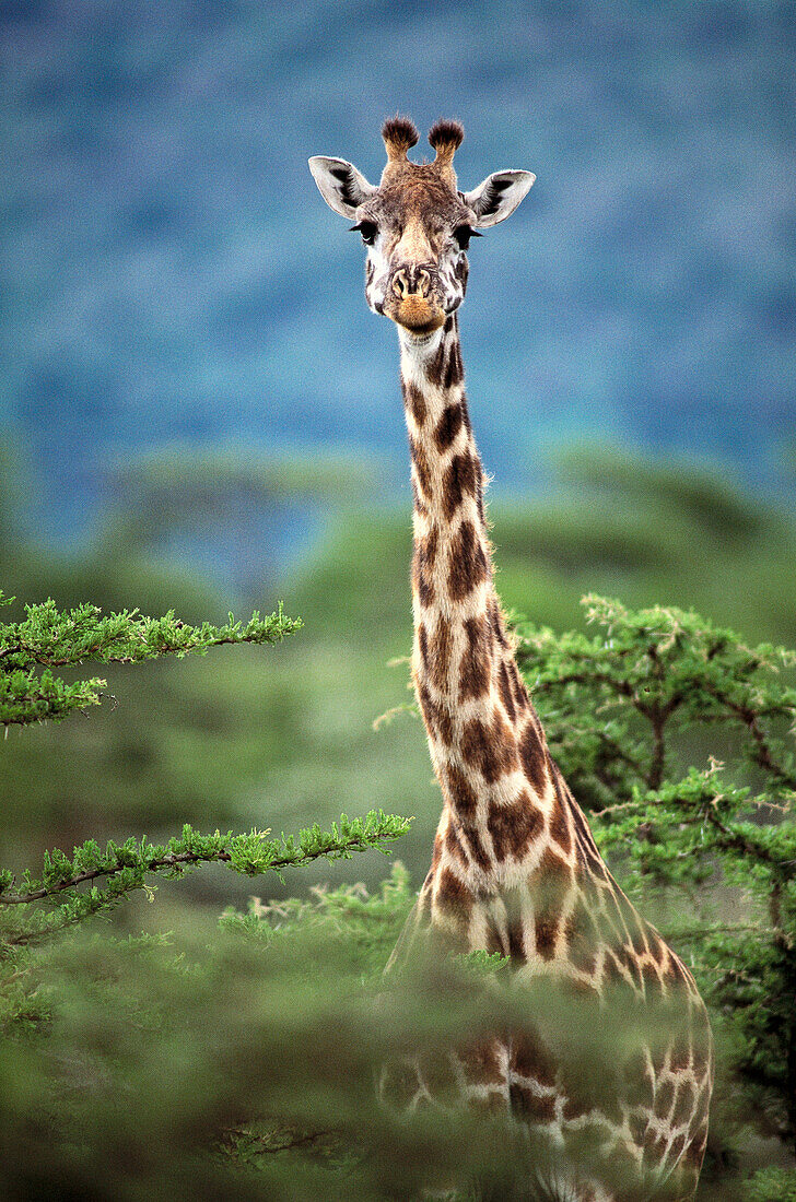
[[(595, 596), (584, 606), (594, 637), (521, 627), (518, 660), (551, 751), (642, 909), (666, 891), (667, 934), (690, 948), (727, 1028), (736, 1114), (753, 1111), (792, 1143), (796, 656), (750, 648), (695, 613)], [(724, 748), (724, 763), (709, 748)], [(735, 922), (714, 912), (726, 887)], [(672, 918), (678, 895), (685, 924)]]

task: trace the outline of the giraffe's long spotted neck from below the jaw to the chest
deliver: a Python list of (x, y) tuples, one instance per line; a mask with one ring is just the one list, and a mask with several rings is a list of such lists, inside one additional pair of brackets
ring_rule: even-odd
[(445, 798), (435, 853), (446, 845), (476, 881), (495, 883), (507, 862), (541, 846), (551, 821), (568, 850), (571, 831), (494, 591), (463, 379), (456, 316), (420, 347), (402, 335), (414, 495), (412, 679)]

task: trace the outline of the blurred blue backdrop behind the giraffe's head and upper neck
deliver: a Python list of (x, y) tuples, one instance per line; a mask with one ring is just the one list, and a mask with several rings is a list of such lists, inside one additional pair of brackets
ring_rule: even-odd
[(404, 495), (394, 333), (307, 169), (331, 154), (378, 180), (397, 111), (423, 131), (415, 154), (435, 118), (463, 120), (463, 188), (537, 175), (470, 256), (464, 353), (495, 488), (539, 489), (546, 447), (596, 435), (785, 495), (792, 4), (0, 13), (0, 421), (51, 540), (90, 537), (107, 464), (161, 445), (378, 452), (382, 495)]

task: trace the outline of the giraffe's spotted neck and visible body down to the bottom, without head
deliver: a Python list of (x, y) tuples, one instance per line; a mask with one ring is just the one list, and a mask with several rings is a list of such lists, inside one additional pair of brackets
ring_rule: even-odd
[[(470, 1042), (456, 1058), (470, 1100), (483, 1106), (486, 1095), (491, 1107), (505, 1106), (537, 1131), (554, 1130), (557, 1176), (571, 1138), (580, 1178), (572, 1197), (619, 1196), (581, 1176), (582, 1120), (595, 1117), (616, 1132), (605, 1147), (623, 1197), (651, 1196), (651, 1170), (664, 1171), (667, 1196), (693, 1197), (711, 1096), (707, 1014), (688, 970), (604, 864), (517, 671), (493, 587), (456, 319), (420, 347), (402, 337), (402, 380), (415, 499), (412, 678), (445, 803), (432, 869), (387, 968), (414, 946), (500, 952), (516, 968), (513, 981), (543, 972), (566, 987), (562, 998), (575, 990), (588, 999), (574, 1028), (594, 1023), (598, 1039), (604, 1007), (626, 1005), (626, 987), (634, 1006), (618, 1013), (632, 1013), (631, 1028), (637, 1002), (665, 998), (666, 1022), (671, 1014), (675, 1023), (667, 1047), (655, 1006), (649, 1040), (638, 1028), (637, 1041), (607, 1045), (608, 1059), (576, 1063), (566, 1035), (559, 1054), (558, 1011), (550, 1028), (534, 1019), (475, 1048)], [(604, 1063), (605, 1072), (583, 1072), (583, 1064)], [(412, 1067), (412, 1101), (433, 1099), (438, 1070), (423, 1076), (422, 1065)]]

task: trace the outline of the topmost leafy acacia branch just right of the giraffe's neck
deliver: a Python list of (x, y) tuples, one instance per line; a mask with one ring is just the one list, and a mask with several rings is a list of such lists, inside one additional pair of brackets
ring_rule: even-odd
[[(548, 739), (575, 762), (576, 775), (588, 778), (586, 797), (595, 809), (610, 805), (617, 789), (660, 787), (673, 724), (739, 722), (744, 757), (767, 774), (768, 787), (779, 795), (796, 790), (794, 754), (777, 731), (785, 722), (792, 731), (796, 722), (796, 690), (783, 679), (796, 653), (749, 648), (732, 631), (676, 608), (634, 612), (594, 595), (583, 605), (587, 621), (602, 633), (558, 636), (521, 626), (517, 657), (545, 706)], [(584, 713), (600, 714), (601, 722), (589, 725), (578, 748), (574, 730)]]

